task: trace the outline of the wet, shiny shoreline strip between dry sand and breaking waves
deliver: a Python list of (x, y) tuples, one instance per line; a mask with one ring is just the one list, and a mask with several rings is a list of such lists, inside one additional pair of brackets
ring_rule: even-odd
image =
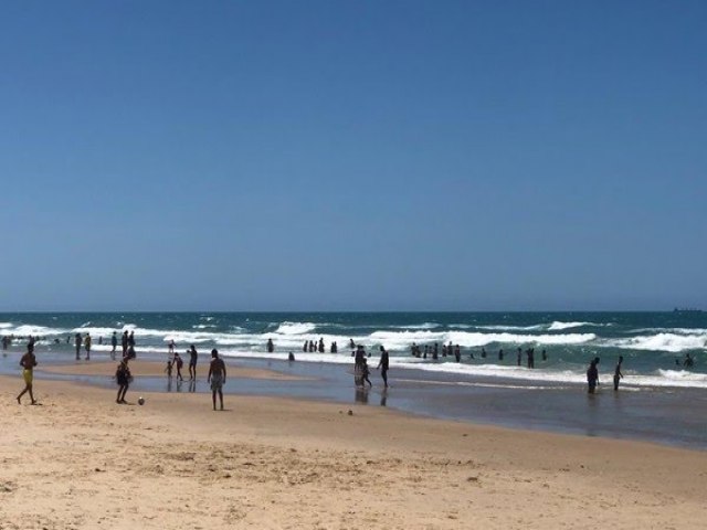
[[(19, 373), (19, 356), (15, 352), (0, 359), (0, 373)], [(700, 424), (707, 395), (697, 389), (636, 390), (626, 385), (614, 392), (604, 381), (598, 394), (589, 396), (585, 385), (579, 384), (538, 386), (534, 382), (431, 374), (395, 365), (389, 374), (389, 389), (382, 386), (376, 370), (371, 375), (373, 386), (361, 389), (354, 385), (352, 365), (252, 358), (225, 361), (230, 383), (224, 392), (229, 395), (361, 404), (471, 424), (707, 449), (707, 433)], [(197, 381), (189, 381), (183, 369), (186, 380), (181, 382), (176, 377), (167, 378), (158, 356), (141, 356), (130, 363), (136, 378), (133, 388), (140, 392), (208, 393), (207, 362), (205, 356), (200, 356)], [(105, 353), (92, 361), (42, 356), (36, 377), (113, 389), (116, 364)]]

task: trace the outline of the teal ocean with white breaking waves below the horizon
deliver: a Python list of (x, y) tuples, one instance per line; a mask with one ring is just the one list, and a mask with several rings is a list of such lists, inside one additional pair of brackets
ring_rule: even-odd
[[(135, 332), (138, 354), (166, 354), (173, 340), (177, 351), (194, 344), (201, 353), (217, 348), (240, 359), (283, 359), (292, 351), (297, 361), (336, 364), (351, 362), (354, 341), (373, 358), (383, 346), (395, 369), (483, 377), (509, 385), (583, 383), (591, 359), (599, 357), (605, 373), (623, 356), (627, 388), (707, 388), (707, 312), (701, 311), (0, 314), (0, 335), (40, 337), (38, 353), (66, 359), (73, 358), (75, 333), (91, 333), (93, 351), (105, 352), (113, 331), (126, 329)], [(266, 351), (267, 339), (273, 353)], [(305, 341), (320, 339), (324, 353), (303, 351)], [(337, 353), (330, 352), (331, 342), (337, 342)], [(437, 360), (431, 351), (426, 359), (411, 354), (413, 343), (424, 352), (435, 342)], [(442, 357), (442, 346), (450, 342), (460, 344), (462, 362)], [(19, 344), (23, 341), (17, 340), (14, 348)], [(520, 367), (518, 348), (524, 351)], [(526, 368), (528, 348), (536, 350), (535, 369)], [(689, 369), (683, 367), (686, 354), (695, 361)]]

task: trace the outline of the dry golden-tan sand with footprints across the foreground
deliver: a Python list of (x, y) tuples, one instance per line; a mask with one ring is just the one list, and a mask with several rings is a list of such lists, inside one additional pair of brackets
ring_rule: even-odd
[(42, 405), (18, 405), (21, 386), (0, 378), (2, 530), (707, 523), (707, 452), (271, 398), (117, 405), (40, 374)]

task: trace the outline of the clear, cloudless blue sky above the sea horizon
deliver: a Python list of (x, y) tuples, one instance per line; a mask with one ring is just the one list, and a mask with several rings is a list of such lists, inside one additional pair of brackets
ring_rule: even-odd
[(707, 2), (0, 4), (0, 310), (707, 309)]

